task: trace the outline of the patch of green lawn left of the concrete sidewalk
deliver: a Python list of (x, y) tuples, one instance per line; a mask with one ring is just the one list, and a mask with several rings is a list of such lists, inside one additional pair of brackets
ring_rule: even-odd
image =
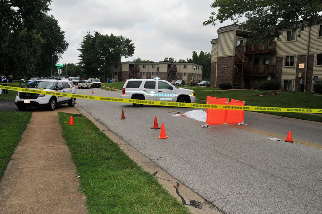
[(21, 135), (31, 118), (31, 112), (5, 112), (0, 111), (0, 180), (5, 172), (8, 162), (18, 143)]

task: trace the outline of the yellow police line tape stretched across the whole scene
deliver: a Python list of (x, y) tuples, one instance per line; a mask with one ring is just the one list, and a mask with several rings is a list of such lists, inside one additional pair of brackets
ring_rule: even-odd
[(206, 108), (206, 109), (229, 109), (229, 110), (243, 110), (243, 111), (255, 111), (255, 112), (293, 112), (293, 113), (322, 113), (322, 109), (302, 109), (302, 108), (279, 108), (279, 107), (263, 107), (263, 106), (234, 106), (234, 105), (217, 105), (217, 104), (201, 104), (201, 103), (187, 103), (187, 102), (164, 102), (164, 101), (151, 101), (151, 100), (137, 100), (137, 99), (123, 99), (114, 97), (100, 97), (93, 95), (83, 94), (69, 94), (61, 92), (48, 92), (44, 90), (35, 90), (29, 88), (19, 88), (13, 86), (0, 85), (0, 88), (11, 91), (31, 92), (38, 94), (56, 95), (62, 97), (74, 97), (87, 100), (99, 100), (108, 102), (124, 102), (124, 103), (136, 103), (146, 105), (161, 105), (161, 106), (175, 106), (186, 108)]

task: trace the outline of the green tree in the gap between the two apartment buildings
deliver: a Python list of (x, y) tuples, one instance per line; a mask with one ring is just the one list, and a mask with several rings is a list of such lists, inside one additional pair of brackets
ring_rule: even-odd
[(204, 80), (210, 80), (210, 68), (211, 68), (211, 53), (204, 53), (200, 51), (199, 55), (196, 51), (192, 52), (192, 58), (187, 58), (188, 63), (195, 63), (203, 66), (202, 78)]

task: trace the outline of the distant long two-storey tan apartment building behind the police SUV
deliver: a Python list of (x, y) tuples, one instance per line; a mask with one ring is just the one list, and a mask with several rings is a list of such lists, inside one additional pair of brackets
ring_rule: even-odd
[[(195, 69), (194, 69), (195, 68)], [(122, 62), (112, 64), (113, 78), (118, 81), (127, 79), (153, 79), (159, 77), (161, 80), (184, 80), (186, 83), (192, 79), (202, 80), (203, 66), (194, 63), (132, 63)], [(193, 78), (194, 76), (194, 78)]]

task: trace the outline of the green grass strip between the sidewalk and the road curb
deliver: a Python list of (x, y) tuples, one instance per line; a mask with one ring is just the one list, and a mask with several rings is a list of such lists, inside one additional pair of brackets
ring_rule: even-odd
[(86, 117), (59, 112), (90, 213), (190, 213)]

